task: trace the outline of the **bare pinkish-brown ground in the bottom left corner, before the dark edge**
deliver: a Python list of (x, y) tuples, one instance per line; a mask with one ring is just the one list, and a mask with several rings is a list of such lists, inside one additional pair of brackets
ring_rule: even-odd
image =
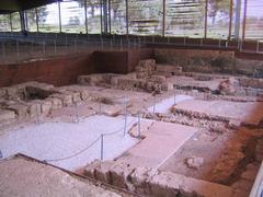
[(21, 157), (1, 161), (0, 172), (0, 196), (125, 196), (116, 189), (95, 185), (89, 179)]

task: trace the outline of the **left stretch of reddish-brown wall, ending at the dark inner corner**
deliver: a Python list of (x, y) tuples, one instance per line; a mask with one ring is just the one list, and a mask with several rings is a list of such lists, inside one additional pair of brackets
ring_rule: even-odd
[(76, 83), (78, 76), (93, 72), (94, 61), (92, 54), (15, 65), (0, 65), (0, 86), (26, 81), (66, 85)]

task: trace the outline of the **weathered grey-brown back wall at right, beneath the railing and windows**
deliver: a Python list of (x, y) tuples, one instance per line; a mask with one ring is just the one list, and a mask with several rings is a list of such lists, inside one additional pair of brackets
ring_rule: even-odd
[(183, 67), (183, 71), (245, 74), (263, 78), (263, 60), (241, 58), (235, 51), (199, 49), (156, 49), (157, 62)]

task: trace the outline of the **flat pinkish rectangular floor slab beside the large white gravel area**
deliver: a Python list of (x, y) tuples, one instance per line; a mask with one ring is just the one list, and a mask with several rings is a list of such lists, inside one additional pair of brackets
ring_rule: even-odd
[(196, 131), (197, 128), (188, 126), (153, 121), (142, 131), (145, 139), (118, 160), (133, 166), (159, 167)]

